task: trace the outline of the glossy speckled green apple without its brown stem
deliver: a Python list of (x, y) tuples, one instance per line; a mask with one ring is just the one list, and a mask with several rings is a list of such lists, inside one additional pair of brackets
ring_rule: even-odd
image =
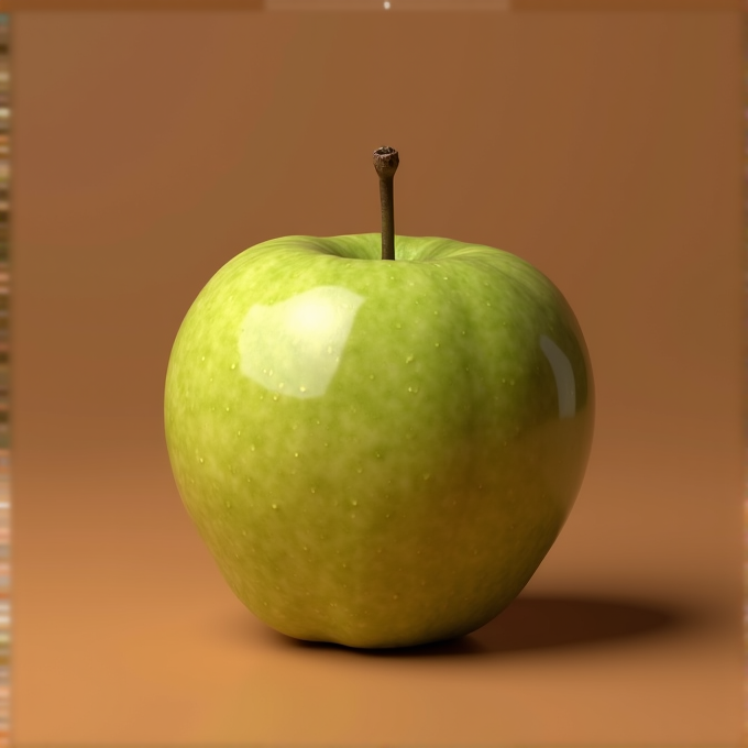
[(519, 257), (284, 237), (227, 263), (174, 343), (165, 435), (231, 590), (290, 637), (403, 647), (504, 609), (558, 536), (594, 421), (586, 346)]

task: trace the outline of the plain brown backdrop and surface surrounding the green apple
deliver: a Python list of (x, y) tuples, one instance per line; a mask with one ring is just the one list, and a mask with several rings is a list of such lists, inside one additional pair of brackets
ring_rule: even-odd
[[(14, 16), (15, 745), (737, 746), (740, 32), (737, 12)], [(246, 613), (162, 432), (202, 284), (272, 237), (377, 231), (383, 143), (398, 232), (540, 267), (598, 397), (522, 596), (397, 656)]]

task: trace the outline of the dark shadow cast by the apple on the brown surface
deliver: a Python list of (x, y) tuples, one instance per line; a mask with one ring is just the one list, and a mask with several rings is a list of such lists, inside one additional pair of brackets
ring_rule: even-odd
[(417, 647), (353, 649), (300, 641), (272, 631), (283, 647), (332, 649), (365, 657), (414, 658), (486, 656), (549, 648), (582, 647), (668, 634), (694, 625), (693, 615), (630, 601), (600, 597), (520, 596), (496, 618), (457, 639)]

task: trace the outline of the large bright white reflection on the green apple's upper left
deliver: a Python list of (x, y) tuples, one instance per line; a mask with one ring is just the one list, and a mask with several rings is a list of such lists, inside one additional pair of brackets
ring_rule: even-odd
[(242, 373), (289, 397), (324, 395), (364, 300), (341, 286), (319, 286), (278, 304), (256, 304), (239, 333)]

